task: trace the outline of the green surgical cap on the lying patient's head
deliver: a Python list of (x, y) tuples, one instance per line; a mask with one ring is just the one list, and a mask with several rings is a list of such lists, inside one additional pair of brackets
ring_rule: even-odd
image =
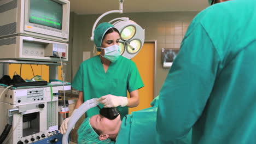
[(78, 131), (78, 140), (79, 144), (107, 144), (107, 143), (115, 143), (110, 139), (99, 140), (98, 134), (92, 129), (90, 124), (90, 118), (85, 118), (84, 122), (80, 125)]

